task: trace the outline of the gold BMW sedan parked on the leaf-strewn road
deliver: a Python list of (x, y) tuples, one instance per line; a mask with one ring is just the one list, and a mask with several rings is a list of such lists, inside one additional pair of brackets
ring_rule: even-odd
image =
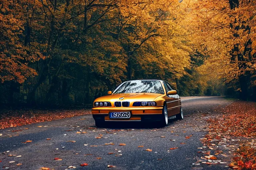
[(97, 127), (106, 122), (157, 122), (166, 126), (168, 119), (183, 119), (177, 91), (163, 80), (132, 80), (120, 84), (113, 93), (94, 100), (92, 116)]

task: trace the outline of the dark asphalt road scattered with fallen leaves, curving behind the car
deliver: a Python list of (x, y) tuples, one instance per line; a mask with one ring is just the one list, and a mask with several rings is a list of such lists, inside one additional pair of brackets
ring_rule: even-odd
[[(141, 127), (138, 123), (96, 128), (92, 116), (83, 115), (0, 130), (3, 134), (0, 136), (0, 167), (21, 170), (39, 170), (41, 167), (65, 170), (69, 166), (77, 170), (227, 169), (227, 164), (196, 166), (193, 163), (197, 161), (197, 148), (203, 146), (200, 138), (206, 134), (206, 121), (201, 119), (202, 116), (214, 114), (216, 107), (229, 103), (220, 97), (184, 97), (184, 119), (170, 121), (165, 128), (155, 128), (154, 125)], [(186, 139), (186, 136), (190, 138)], [(32, 142), (22, 143), (27, 140)], [(126, 145), (119, 146), (120, 143)], [(62, 160), (53, 160), (56, 157)], [(22, 165), (17, 166), (18, 163)], [(80, 166), (82, 163), (88, 166)], [(108, 165), (115, 167), (108, 168)]]

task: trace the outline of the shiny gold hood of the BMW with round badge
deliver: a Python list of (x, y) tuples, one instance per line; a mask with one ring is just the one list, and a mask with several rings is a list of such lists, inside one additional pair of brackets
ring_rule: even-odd
[[(121, 93), (102, 96), (95, 99), (94, 102), (115, 102), (115, 101), (129, 101), (129, 102), (142, 102), (154, 101), (155, 98), (163, 94), (158, 93)], [(123, 99), (120, 99), (123, 98)]]

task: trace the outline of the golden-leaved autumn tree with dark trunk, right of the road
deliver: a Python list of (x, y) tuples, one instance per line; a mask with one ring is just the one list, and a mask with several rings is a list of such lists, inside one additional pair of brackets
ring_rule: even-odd
[(193, 5), (198, 22), (196, 40), (202, 51), (212, 56), (208, 70), (240, 91), (242, 99), (250, 98), (256, 87), (255, 1), (201, 1)]

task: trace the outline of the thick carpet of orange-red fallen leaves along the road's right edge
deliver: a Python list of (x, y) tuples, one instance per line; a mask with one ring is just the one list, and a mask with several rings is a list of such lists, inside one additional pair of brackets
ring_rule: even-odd
[(236, 101), (227, 106), (223, 115), (208, 120), (215, 139), (239, 137), (232, 169), (256, 170), (256, 103)]

